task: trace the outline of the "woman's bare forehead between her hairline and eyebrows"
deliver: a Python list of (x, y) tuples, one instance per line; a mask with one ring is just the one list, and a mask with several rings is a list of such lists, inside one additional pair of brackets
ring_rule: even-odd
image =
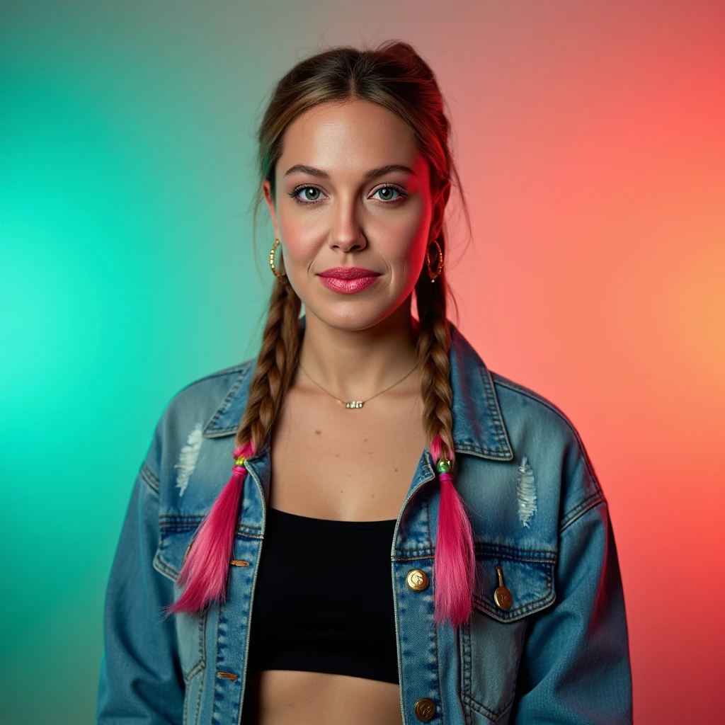
[(328, 173), (365, 172), (391, 163), (415, 165), (421, 154), (413, 130), (392, 111), (368, 101), (323, 103), (287, 128), (278, 173), (307, 164)]

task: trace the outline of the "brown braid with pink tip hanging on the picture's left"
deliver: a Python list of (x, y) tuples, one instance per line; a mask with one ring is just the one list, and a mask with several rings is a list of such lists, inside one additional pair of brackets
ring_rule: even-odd
[(249, 384), (247, 407), (236, 432), (232, 475), (199, 526), (178, 577), (178, 584), (184, 585), (183, 592), (167, 612), (194, 613), (214, 600), (225, 600), (239, 503), (247, 476), (244, 461), (260, 450), (270, 434), (297, 368), (301, 306), (289, 281), (278, 278)]

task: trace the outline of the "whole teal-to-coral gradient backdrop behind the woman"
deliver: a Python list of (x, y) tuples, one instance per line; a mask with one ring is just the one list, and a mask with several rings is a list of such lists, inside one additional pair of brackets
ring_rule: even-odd
[(154, 425), (256, 352), (272, 84), (393, 37), (450, 107), (460, 327), (566, 412), (610, 502), (636, 721), (722, 715), (725, 3), (6, 0), (0, 28), (4, 724), (93, 721)]

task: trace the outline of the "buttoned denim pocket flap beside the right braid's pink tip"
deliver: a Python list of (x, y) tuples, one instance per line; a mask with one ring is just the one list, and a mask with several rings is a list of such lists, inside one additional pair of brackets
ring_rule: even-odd
[[(511, 547), (476, 544), (476, 584), (473, 606), (500, 622), (520, 619), (549, 606), (554, 589), (555, 552), (525, 551)], [(497, 605), (494, 593), (500, 586), (510, 592), (510, 608)]]

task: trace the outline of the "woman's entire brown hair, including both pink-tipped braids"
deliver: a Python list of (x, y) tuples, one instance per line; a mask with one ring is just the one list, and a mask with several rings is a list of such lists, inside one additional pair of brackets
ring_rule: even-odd
[[(307, 109), (326, 102), (361, 99), (395, 113), (415, 133), (415, 140), (431, 169), (431, 192), (446, 186), (460, 188), (460, 178), (450, 152), (450, 124), (444, 100), (430, 67), (412, 46), (388, 41), (377, 49), (341, 46), (297, 63), (279, 80), (260, 124), (258, 164), (262, 181), (268, 181), (273, 199), (275, 173), (289, 125)], [(436, 203), (447, 204), (447, 194)], [(261, 184), (254, 204), (254, 232), (262, 201)], [(465, 199), (463, 210), (470, 229)], [(442, 212), (441, 208), (441, 212)], [(442, 218), (442, 213), (441, 213)], [(446, 249), (444, 224), (436, 239)], [(447, 319), (448, 287), (445, 272), (431, 284), (426, 268), (415, 285), (419, 333), (416, 355), (421, 366), (423, 428), (434, 464), (455, 463), (450, 385), (450, 326)], [(262, 347), (249, 385), (249, 398), (236, 431), (234, 456), (254, 455), (268, 441), (284, 396), (297, 370), (301, 300), (286, 278), (276, 278), (268, 310)], [(244, 452), (244, 453), (242, 453)], [(181, 597), (173, 612), (194, 612), (210, 602), (223, 600), (231, 546), (239, 515), (243, 463), (233, 467), (225, 489), (202, 521), (183, 564)], [(441, 485), (438, 537), (434, 555), (434, 609), (436, 623), (447, 620), (458, 626), (471, 613), (476, 571), (471, 522), (463, 500), (447, 471), (436, 475)]]

